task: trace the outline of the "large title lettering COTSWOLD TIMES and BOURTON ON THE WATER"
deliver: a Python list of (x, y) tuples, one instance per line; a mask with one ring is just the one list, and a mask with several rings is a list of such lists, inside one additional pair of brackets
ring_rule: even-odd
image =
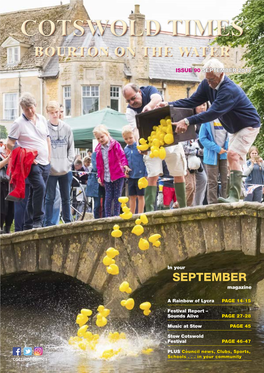
[[(144, 35), (149, 37), (155, 37), (161, 32), (161, 25), (156, 20), (146, 20), (146, 29), (140, 33), (137, 33), (136, 30), (136, 21), (130, 21), (130, 27), (128, 27), (127, 23), (123, 20), (116, 20), (113, 21), (111, 24), (106, 21), (102, 23), (100, 20), (91, 21), (91, 20), (57, 20), (54, 23), (51, 20), (43, 20), (39, 23), (35, 20), (26, 20), (23, 22), (21, 26), (21, 31), (26, 36), (34, 36), (36, 33), (40, 33), (44, 37), (51, 37), (55, 31), (56, 27), (61, 28), (61, 35), (67, 36), (68, 35), (68, 26), (71, 26), (70, 33), (73, 32), (73, 35), (76, 37), (80, 37), (90, 29), (92, 35), (94, 36), (96, 31), (99, 30), (100, 34), (103, 36), (106, 28), (110, 28), (111, 33), (116, 36), (117, 38), (126, 35), (129, 32), (131, 37), (143, 37)], [(33, 24), (33, 25), (32, 25)], [(229, 22), (228, 20), (209, 20), (207, 21), (206, 25), (203, 26), (199, 20), (169, 20), (168, 24), (172, 26), (171, 36), (204, 36), (206, 29), (206, 36), (214, 37), (214, 36), (228, 36), (230, 31), (227, 32), (226, 26), (231, 26), (231, 33), (233, 36), (239, 37), (243, 33), (243, 29), (236, 24), (235, 22)], [(185, 32), (179, 33), (178, 26), (183, 25), (185, 26)], [(30, 25), (31, 32), (28, 31), (28, 26)], [(33, 27), (32, 27), (33, 26)], [(32, 32), (32, 28), (34, 31)], [(74, 31), (73, 31), (74, 29)], [(194, 29), (194, 32), (193, 32)], [(167, 32), (167, 31), (166, 31)], [(117, 39), (118, 40), (118, 39)], [(173, 57), (173, 48), (166, 46), (166, 47), (148, 47), (142, 46), (142, 52), (144, 57), (152, 56), (152, 57)], [(196, 56), (199, 57), (200, 55), (206, 57), (207, 54), (210, 54), (212, 57), (229, 57), (229, 49), (228, 47), (186, 47), (180, 46), (179, 52), (182, 57), (184, 56)], [(132, 56), (135, 57), (136, 50), (132, 47), (117, 47), (114, 49), (114, 53), (117, 57), (123, 56)], [(109, 56), (109, 47), (100, 47), (96, 48), (93, 47), (61, 47), (61, 46), (49, 46), (47, 48), (43, 47), (35, 47), (35, 56), (42, 57), (44, 55), (48, 57), (53, 57), (55, 55), (60, 57), (96, 57), (96, 56)]]

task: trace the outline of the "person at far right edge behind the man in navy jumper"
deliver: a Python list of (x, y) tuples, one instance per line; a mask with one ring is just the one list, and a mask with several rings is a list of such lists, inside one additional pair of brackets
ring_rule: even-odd
[(250, 159), (247, 161), (247, 167), (244, 170), (244, 175), (247, 176), (245, 181), (247, 195), (244, 201), (261, 203), (264, 184), (264, 161), (259, 156), (256, 146), (251, 146), (248, 154)]

